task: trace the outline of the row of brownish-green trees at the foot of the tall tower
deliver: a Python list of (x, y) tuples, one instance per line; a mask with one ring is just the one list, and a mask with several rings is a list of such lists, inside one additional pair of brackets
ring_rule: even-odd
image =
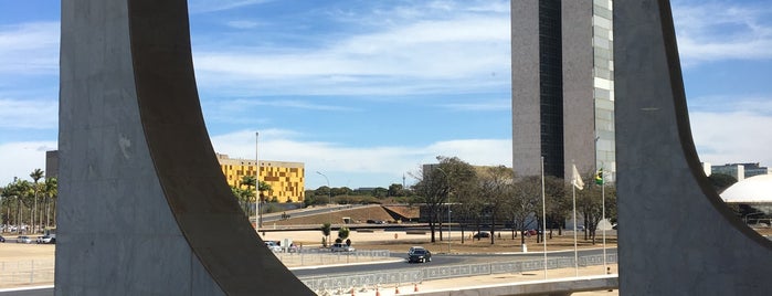
[[(473, 167), (456, 157), (441, 156), (437, 160), (438, 165), (424, 166), (413, 173), (417, 180), (413, 190), (424, 207), (432, 242), (436, 242), (435, 232), (443, 228), (443, 222), (451, 221), (445, 216), (451, 214), (448, 211), (455, 216), (452, 221), (462, 228), (462, 243), (464, 231), (472, 229), (475, 232), (489, 232), (490, 243), (494, 244), (497, 225), (508, 225), (512, 239), (528, 230), (537, 230), (538, 241), (543, 240), (543, 234), (551, 237), (554, 230), (562, 234), (573, 208), (571, 184), (562, 178), (544, 177), (546, 202), (542, 208), (542, 181), (539, 176), (519, 177), (505, 166)], [(594, 180), (595, 172), (588, 172), (582, 178)], [(605, 204), (602, 195), (605, 195)], [(584, 239), (593, 243), (603, 216), (603, 205), (605, 216), (615, 221), (616, 190), (613, 184), (589, 184), (577, 191), (578, 220), (584, 224)], [(542, 226), (544, 216), (547, 230)], [(443, 240), (442, 232), (440, 240)], [(521, 240), (525, 243), (525, 237), (521, 236)]]

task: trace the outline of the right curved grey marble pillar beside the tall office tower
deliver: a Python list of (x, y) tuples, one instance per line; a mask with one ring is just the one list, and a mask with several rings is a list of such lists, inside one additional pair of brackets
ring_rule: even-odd
[(762, 295), (772, 243), (742, 224), (702, 172), (669, 2), (614, 1), (620, 290)]

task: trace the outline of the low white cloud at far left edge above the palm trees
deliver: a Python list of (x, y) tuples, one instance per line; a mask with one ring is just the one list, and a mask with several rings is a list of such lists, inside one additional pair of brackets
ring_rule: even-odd
[(56, 150), (56, 141), (24, 141), (0, 144), (0, 187), (13, 177), (31, 180), (30, 172), (45, 170), (45, 151)]

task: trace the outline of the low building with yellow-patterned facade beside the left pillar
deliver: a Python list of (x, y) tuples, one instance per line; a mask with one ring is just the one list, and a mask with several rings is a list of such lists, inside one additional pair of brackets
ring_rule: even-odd
[[(241, 186), (244, 176), (255, 176), (254, 159), (234, 159), (221, 154), (216, 156), (228, 184)], [(271, 186), (271, 191), (263, 192), (267, 201), (275, 198), (278, 202), (303, 202), (306, 195), (304, 176), (303, 162), (261, 160), (257, 180)]]

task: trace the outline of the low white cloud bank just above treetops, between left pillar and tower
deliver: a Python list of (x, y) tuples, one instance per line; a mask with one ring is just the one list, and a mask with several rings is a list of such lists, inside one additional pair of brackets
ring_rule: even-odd
[[(425, 147), (349, 147), (336, 142), (304, 141), (298, 139), (304, 137), (303, 134), (292, 130), (268, 129), (260, 133), (260, 159), (304, 162), (307, 176), (314, 171), (340, 176), (401, 176), (416, 170), (422, 163), (436, 162), (437, 156), (455, 156), (472, 165), (511, 167), (511, 140), (508, 139), (458, 139)], [(232, 158), (255, 158), (254, 131), (213, 136), (212, 142), (215, 151)]]

